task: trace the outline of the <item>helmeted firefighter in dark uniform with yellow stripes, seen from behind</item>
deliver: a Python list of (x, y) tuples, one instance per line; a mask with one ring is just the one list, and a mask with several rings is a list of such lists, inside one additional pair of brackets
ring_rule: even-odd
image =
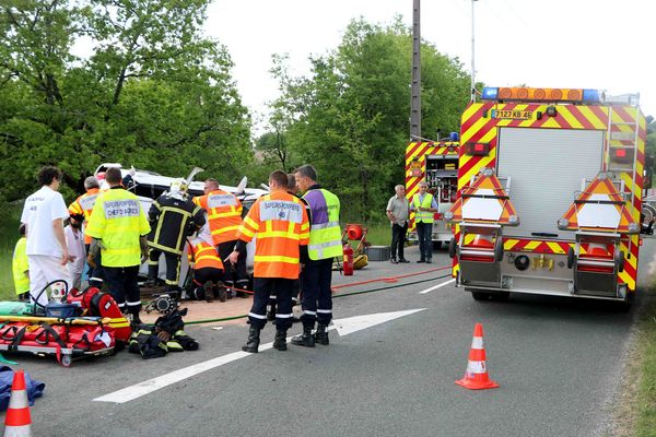
[(155, 283), (160, 270), (160, 256), (166, 260), (166, 293), (178, 292), (180, 259), (187, 237), (196, 233), (206, 222), (203, 211), (185, 193), (184, 180), (176, 179), (169, 191), (153, 202), (148, 213), (151, 233), (148, 236), (150, 256), (148, 261), (149, 282)]

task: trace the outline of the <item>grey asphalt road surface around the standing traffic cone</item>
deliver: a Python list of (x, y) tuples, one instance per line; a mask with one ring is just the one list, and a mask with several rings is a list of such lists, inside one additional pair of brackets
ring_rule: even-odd
[[(643, 247), (645, 284), (655, 245)], [(410, 248), (410, 259), (417, 250)], [(353, 279), (389, 277), (446, 265), (372, 262)], [(635, 309), (590, 300), (513, 296), (475, 302), (432, 272), (340, 292), (396, 288), (335, 299), (337, 319), (418, 310), (347, 335), (329, 346), (291, 346), (239, 357), (246, 324), (189, 327), (201, 350), (144, 361), (121, 352), (62, 368), (13, 355), (46, 382), (32, 408), (34, 436), (596, 436), (606, 430)], [(403, 285), (425, 280), (422, 283)], [(482, 322), (490, 377), (499, 389), (469, 391), (462, 377), (473, 326)], [(262, 341), (272, 340), (267, 326)], [(301, 331), (295, 326), (290, 334)], [(134, 400), (98, 397), (227, 354), (178, 382)], [(227, 359), (226, 359), (227, 361)], [(211, 362), (214, 363), (215, 362)], [(145, 387), (154, 385), (149, 382)]]

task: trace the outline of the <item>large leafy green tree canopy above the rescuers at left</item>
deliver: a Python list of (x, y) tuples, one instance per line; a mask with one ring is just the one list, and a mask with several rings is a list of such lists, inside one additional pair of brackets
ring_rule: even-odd
[[(0, 5), (0, 200), (54, 164), (69, 189), (102, 162), (234, 181), (250, 120), (210, 0), (13, 0)], [(80, 48), (89, 56), (75, 55)]]

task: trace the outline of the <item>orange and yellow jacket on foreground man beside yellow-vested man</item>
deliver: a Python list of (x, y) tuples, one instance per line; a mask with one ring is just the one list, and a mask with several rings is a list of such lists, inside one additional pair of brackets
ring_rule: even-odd
[(309, 240), (305, 204), (285, 191), (262, 196), (237, 232), (246, 243), (256, 236), (254, 276), (298, 279), (298, 247)]

